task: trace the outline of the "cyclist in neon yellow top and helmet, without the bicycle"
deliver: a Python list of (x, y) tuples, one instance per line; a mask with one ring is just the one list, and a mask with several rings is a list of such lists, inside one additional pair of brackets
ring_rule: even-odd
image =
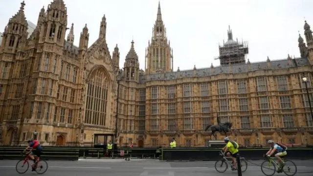
[(227, 152), (227, 156), (231, 157), (233, 160), (233, 167), (231, 170), (237, 170), (237, 161), (236, 157), (239, 152), (238, 150), (238, 144), (235, 141), (230, 140), (228, 137), (224, 138), (224, 142), (226, 143), (226, 146), (223, 148), (224, 155)]

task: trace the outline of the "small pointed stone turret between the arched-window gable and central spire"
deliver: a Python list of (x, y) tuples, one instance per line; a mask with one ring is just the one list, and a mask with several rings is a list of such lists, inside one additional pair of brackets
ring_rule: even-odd
[(139, 81), (139, 62), (138, 55), (134, 49), (134, 41), (132, 41), (131, 49), (126, 55), (124, 63), (124, 78), (126, 81)]

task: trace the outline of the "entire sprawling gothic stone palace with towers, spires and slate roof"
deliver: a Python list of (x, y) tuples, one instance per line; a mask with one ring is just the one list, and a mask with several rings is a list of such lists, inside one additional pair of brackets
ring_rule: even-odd
[[(300, 58), (250, 63), (246, 42), (228, 40), (219, 47), (221, 66), (174, 72), (173, 50), (166, 37), (160, 4), (145, 55), (145, 70), (131, 43), (124, 68), (119, 51), (106, 44), (106, 19), (99, 38), (88, 48), (88, 28), (73, 45), (67, 40), (67, 9), (54, 0), (41, 10), (27, 37), (24, 4), (2, 34), (0, 48), (0, 141), (23, 143), (33, 133), (46, 145), (92, 143), (95, 133), (113, 133), (117, 84), (118, 139), (121, 146), (206, 146), (209, 124), (233, 123), (231, 138), (243, 145), (268, 139), (313, 143), (313, 119), (305, 83), (312, 96), (313, 37), (305, 22), (307, 44), (299, 36)], [(116, 78), (121, 77), (121, 81)], [(313, 102), (313, 101), (312, 101)], [(219, 139), (223, 135), (218, 135)]]

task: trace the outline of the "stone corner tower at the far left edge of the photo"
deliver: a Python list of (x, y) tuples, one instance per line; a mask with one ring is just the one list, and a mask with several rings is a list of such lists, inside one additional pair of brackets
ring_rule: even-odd
[[(23, 102), (25, 101), (24, 81), (27, 66), (22, 64), (21, 60), (25, 54), (22, 50), (27, 39), (28, 26), (24, 6), (25, 3), (22, 1), (20, 10), (5, 26), (0, 50), (0, 122), (3, 122), (0, 126), (9, 124), (13, 129), (12, 135), (9, 136), (12, 141), (11, 144), (18, 144), (24, 117), (22, 111)], [(21, 65), (22, 70), (16, 67), (18, 64)], [(12, 92), (15, 91), (17, 93), (13, 94)], [(13, 100), (14, 103), (12, 103)], [(0, 131), (2, 131), (1, 127)], [(4, 131), (8, 131), (8, 128)]]

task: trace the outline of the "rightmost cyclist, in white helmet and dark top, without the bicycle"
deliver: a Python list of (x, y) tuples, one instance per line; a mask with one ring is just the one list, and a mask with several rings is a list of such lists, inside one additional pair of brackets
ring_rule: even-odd
[(281, 173), (285, 162), (282, 160), (281, 156), (287, 155), (287, 147), (278, 143), (274, 143), (273, 140), (268, 140), (268, 144), (270, 144), (270, 149), (266, 153), (267, 157), (270, 157), (275, 152), (275, 157), (277, 158), (280, 167), (278, 168), (278, 173)]

